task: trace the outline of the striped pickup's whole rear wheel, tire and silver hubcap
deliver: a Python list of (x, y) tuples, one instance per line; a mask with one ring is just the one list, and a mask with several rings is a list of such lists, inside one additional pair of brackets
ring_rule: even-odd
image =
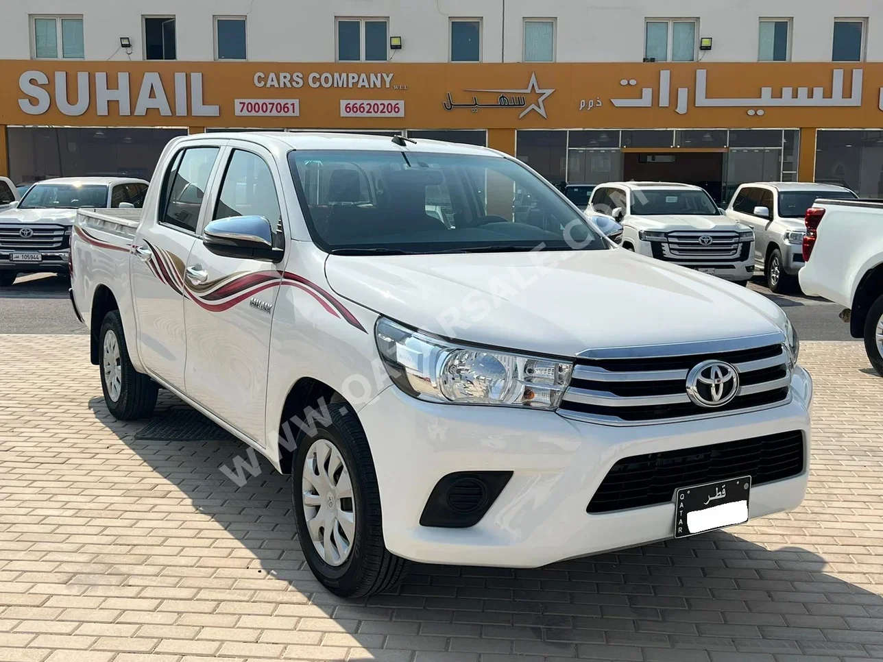
[(154, 380), (132, 365), (118, 311), (104, 316), (98, 343), (102, 391), (110, 413), (122, 421), (149, 416), (156, 406), (159, 389)]

